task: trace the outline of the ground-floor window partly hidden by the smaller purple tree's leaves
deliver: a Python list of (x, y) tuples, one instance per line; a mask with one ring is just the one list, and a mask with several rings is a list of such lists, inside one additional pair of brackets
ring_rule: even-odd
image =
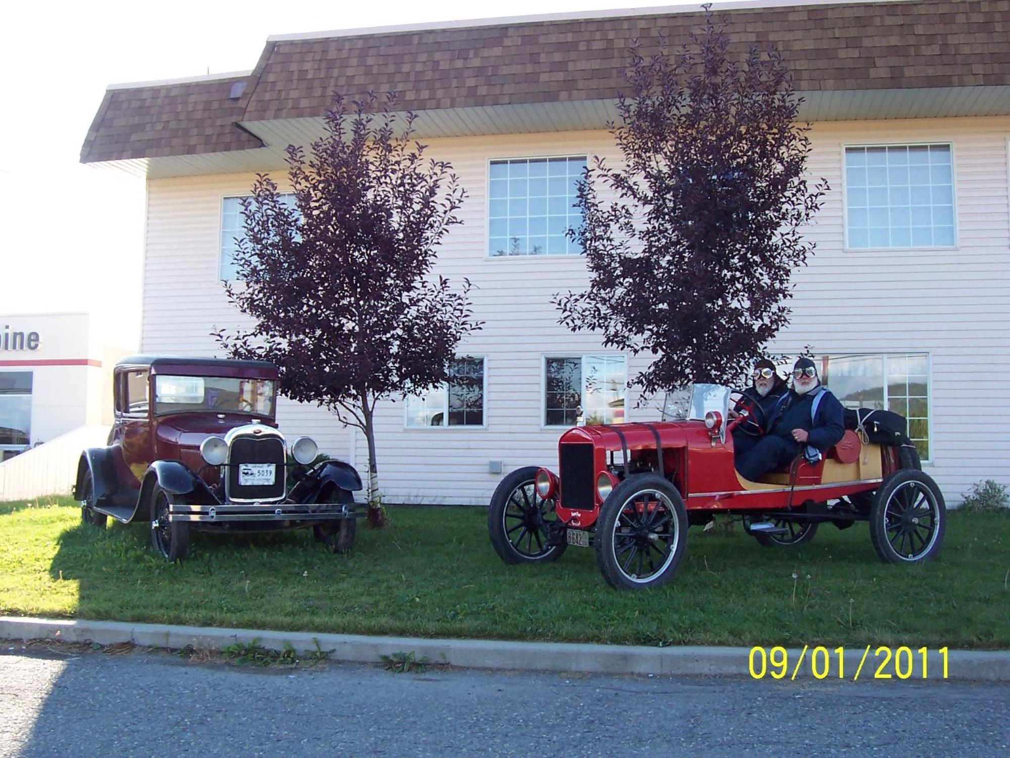
[(407, 398), (407, 427), (483, 427), (484, 387), (484, 359), (456, 359), (445, 384)]

